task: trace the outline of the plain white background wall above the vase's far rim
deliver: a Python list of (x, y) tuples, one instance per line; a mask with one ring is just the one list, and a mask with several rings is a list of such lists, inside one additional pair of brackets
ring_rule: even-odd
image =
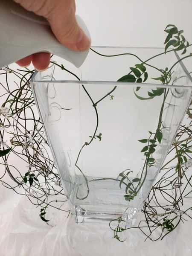
[(168, 24), (192, 42), (192, 0), (76, 0), (94, 46), (163, 47)]

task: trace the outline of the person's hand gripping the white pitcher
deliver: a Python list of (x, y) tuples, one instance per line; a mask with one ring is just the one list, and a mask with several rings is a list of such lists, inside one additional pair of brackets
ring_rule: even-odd
[[(55, 37), (64, 46), (75, 51), (86, 51), (90, 40), (76, 21), (75, 0), (14, 0), (28, 11), (45, 17), (50, 23)], [(49, 66), (50, 53), (38, 52), (16, 63), (22, 67), (32, 61), (36, 70), (45, 70)]]

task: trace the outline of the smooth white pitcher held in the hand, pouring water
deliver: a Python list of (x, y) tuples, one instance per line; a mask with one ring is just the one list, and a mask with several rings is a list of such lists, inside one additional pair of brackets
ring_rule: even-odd
[[(90, 38), (84, 21), (77, 15), (76, 19)], [(64, 47), (44, 17), (26, 11), (12, 0), (0, 0), (0, 68), (36, 52), (51, 52), (80, 67), (89, 50), (76, 52)]]

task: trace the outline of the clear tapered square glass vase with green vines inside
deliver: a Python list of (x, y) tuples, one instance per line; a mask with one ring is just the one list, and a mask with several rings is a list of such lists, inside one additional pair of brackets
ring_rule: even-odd
[(32, 91), (75, 221), (133, 224), (192, 100), (192, 78), (174, 51), (92, 49), (80, 69), (58, 58), (36, 72)]

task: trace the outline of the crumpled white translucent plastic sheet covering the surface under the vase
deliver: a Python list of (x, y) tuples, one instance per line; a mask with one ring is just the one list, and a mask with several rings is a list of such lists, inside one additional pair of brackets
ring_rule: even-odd
[(122, 235), (127, 239), (119, 242), (112, 238), (108, 225), (76, 224), (71, 215), (67, 218), (68, 213), (52, 208), (49, 215), (58, 223), (51, 227), (41, 221), (39, 208), (27, 197), (17, 204), (11, 198), (8, 201), (0, 203), (0, 256), (192, 255), (192, 221), (180, 224), (163, 241), (145, 241), (139, 229), (132, 229)]

